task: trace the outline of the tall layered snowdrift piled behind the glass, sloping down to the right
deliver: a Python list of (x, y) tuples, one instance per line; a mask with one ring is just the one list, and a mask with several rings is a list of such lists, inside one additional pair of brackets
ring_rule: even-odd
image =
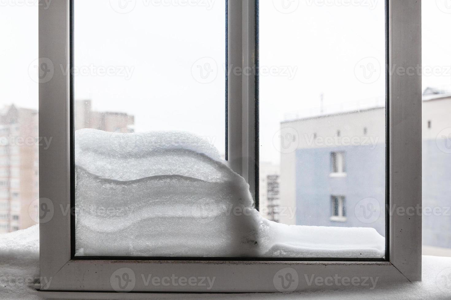
[(75, 133), (76, 254), (382, 258), (373, 228), (262, 218), (246, 181), (184, 132)]

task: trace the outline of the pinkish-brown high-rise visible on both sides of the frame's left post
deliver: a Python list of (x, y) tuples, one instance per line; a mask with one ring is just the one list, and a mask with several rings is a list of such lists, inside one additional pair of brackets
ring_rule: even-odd
[[(122, 112), (93, 112), (91, 100), (75, 102), (75, 129), (94, 128), (133, 132), (134, 117)], [(39, 145), (49, 147), (51, 137), (39, 137), (38, 112), (14, 105), (0, 110), (0, 233), (37, 223), (39, 199)]]

